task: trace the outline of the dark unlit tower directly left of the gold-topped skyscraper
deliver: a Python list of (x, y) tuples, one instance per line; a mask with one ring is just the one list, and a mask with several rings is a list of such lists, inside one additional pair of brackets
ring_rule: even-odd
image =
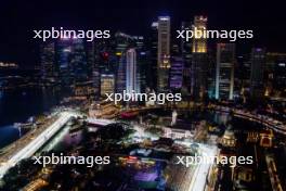
[[(191, 30), (191, 22), (182, 22), (182, 30)], [(182, 86), (187, 93), (191, 93), (191, 67), (192, 67), (192, 41), (186, 41), (185, 38), (181, 38), (181, 55), (183, 58), (183, 82)]]

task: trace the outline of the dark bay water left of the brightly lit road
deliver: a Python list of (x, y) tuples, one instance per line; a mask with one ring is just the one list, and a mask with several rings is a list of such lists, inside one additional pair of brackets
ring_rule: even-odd
[(0, 91), (0, 149), (18, 139), (14, 123), (48, 112), (60, 103), (62, 94), (56, 88)]

